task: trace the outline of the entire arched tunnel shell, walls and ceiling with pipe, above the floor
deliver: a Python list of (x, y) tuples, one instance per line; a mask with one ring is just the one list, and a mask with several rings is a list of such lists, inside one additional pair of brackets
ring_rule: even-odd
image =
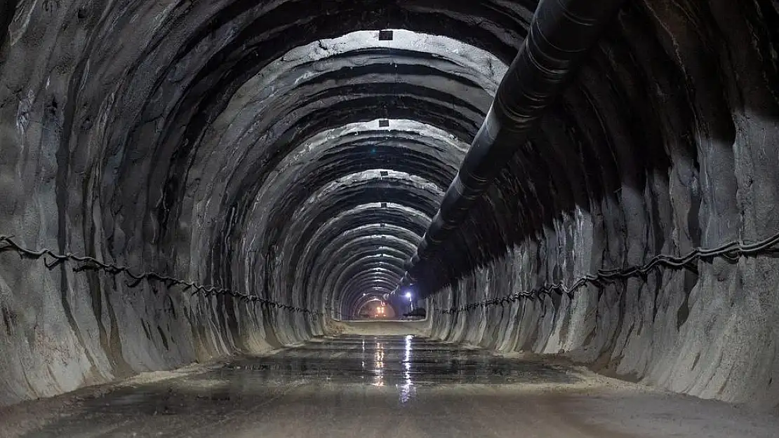
[(779, 436), (777, 208), (777, 0), (0, 0), (0, 426), (331, 342)]

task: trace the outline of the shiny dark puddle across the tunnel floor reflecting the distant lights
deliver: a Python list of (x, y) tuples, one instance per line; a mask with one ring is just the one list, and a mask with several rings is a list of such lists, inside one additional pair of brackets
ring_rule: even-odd
[(344, 336), (312, 342), (262, 359), (241, 359), (226, 370), (252, 371), (252, 379), (328, 380), (373, 386), (506, 384), (571, 381), (554, 366), (518, 362), (482, 349), (407, 336)]

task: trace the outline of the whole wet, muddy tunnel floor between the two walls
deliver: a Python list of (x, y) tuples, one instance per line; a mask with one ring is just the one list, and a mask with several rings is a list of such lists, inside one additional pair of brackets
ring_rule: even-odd
[(19, 436), (776, 438), (779, 417), (418, 336), (341, 335), (96, 391), (26, 429)]

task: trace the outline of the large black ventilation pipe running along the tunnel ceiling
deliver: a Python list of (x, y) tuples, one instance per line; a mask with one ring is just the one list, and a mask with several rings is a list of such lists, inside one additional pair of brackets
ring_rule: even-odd
[(541, 0), (527, 38), (503, 77), (439, 211), (407, 263), (398, 289), (413, 282), (425, 261), (460, 226), (474, 201), (527, 142), (530, 130), (565, 89), (624, 1)]

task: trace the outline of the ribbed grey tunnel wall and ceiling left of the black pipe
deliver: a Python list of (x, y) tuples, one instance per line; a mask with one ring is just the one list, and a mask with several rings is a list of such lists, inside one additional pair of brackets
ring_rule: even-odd
[(532, 2), (361, 6), (0, 2), (0, 404), (295, 344), (376, 272), (390, 292)]

